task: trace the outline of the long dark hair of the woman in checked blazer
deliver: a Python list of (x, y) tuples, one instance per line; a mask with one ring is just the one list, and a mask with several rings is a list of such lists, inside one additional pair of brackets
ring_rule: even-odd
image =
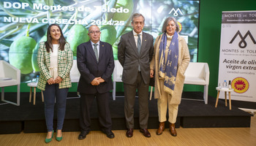
[[(50, 28), (52, 26), (57, 26), (59, 28), (59, 31), (61, 31), (61, 27), (59, 27), (58, 24), (51, 24), (48, 27), (48, 30), (47, 30), (47, 41), (45, 42), (45, 47), (46, 47), (46, 50), (47, 50), (48, 53), (50, 53), (50, 50), (53, 51), (53, 43), (51, 42), (51, 37), (50, 37)], [(66, 44), (66, 39), (64, 38), (62, 31), (61, 31), (61, 37), (59, 38), (58, 42), (59, 42), (59, 49), (60, 50), (64, 50), (64, 46)]]

